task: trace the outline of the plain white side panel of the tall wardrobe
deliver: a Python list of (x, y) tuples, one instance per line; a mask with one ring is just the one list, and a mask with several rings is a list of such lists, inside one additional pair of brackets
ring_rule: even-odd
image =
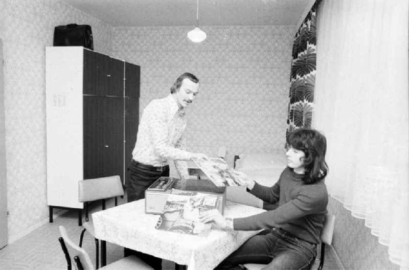
[(47, 204), (83, 208), (82, 47), (46, 47)]

